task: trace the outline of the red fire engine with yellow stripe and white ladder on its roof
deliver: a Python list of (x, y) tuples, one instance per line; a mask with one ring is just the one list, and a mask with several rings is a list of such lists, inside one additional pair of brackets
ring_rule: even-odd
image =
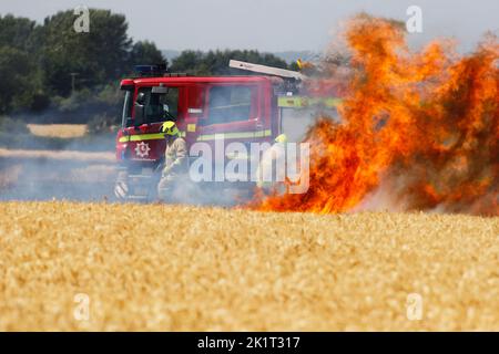
[[(160, 128), (165, 121), (176, 123), (187, 148), (195, 142), (214, 146), (220, 136), (225, 144), (272, 143), (285, 131), (283, 110), (305, 102), (296, 96), (303, 75), (238, 61), (230, 65), (261, 75), (194, 77), (165, 73), (161, 65), (139, 65), (136, 77), (121, 81), (125, 95), (116, 136), (118, 198), (155, 198), (165, 149)], [(322, 103), (329, 108), (337, 104)]]

